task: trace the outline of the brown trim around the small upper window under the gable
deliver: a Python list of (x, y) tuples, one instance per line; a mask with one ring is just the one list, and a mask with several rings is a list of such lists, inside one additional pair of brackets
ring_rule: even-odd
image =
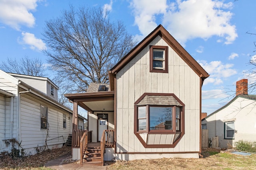
[[(153, 68), (153, 49), (164, 50), (164, 70)], [(168, 47), (152, 45), (150, 46), (150, 72), (164, 72), (168, 73)]]

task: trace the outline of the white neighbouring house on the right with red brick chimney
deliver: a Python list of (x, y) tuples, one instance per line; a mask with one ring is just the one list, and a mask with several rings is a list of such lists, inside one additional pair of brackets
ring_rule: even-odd
[(236, 97), (202, 119), (208, 137), (218, 137), (220, 148), (239, 140), (256, 141), (256, 95), (248, 95), (248, 80), (236, 82)]

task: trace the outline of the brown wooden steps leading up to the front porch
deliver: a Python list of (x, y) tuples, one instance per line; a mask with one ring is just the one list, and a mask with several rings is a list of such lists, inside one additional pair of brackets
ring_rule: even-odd
[(100, 147), (87, 147), (85, 150), (83, 163), (82, 164), (90, 164), (90, 165), (97, 165), (101, 166), (101, 150)]

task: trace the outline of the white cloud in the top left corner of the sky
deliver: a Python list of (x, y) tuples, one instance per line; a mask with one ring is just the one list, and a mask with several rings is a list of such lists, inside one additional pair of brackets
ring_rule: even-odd
[(36, 10), (38, 0), (0, 0), (0, 22), (20, 30), (21, 25), (33, 27), (35, 18), (31, 11)]

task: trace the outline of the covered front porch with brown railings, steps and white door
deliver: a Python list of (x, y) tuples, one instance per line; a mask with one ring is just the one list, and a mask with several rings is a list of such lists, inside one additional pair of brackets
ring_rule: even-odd
[[(72, 159), (103, 166), (104, 160), (112, 160), (114, 156), (114, 92), (96, 89), (97, 92), (88, 93), (88, 89), (86, 93), (64, 96), (73, 102)], [(78, 106), (88, 111), (88, 130), (78, 129)]]

